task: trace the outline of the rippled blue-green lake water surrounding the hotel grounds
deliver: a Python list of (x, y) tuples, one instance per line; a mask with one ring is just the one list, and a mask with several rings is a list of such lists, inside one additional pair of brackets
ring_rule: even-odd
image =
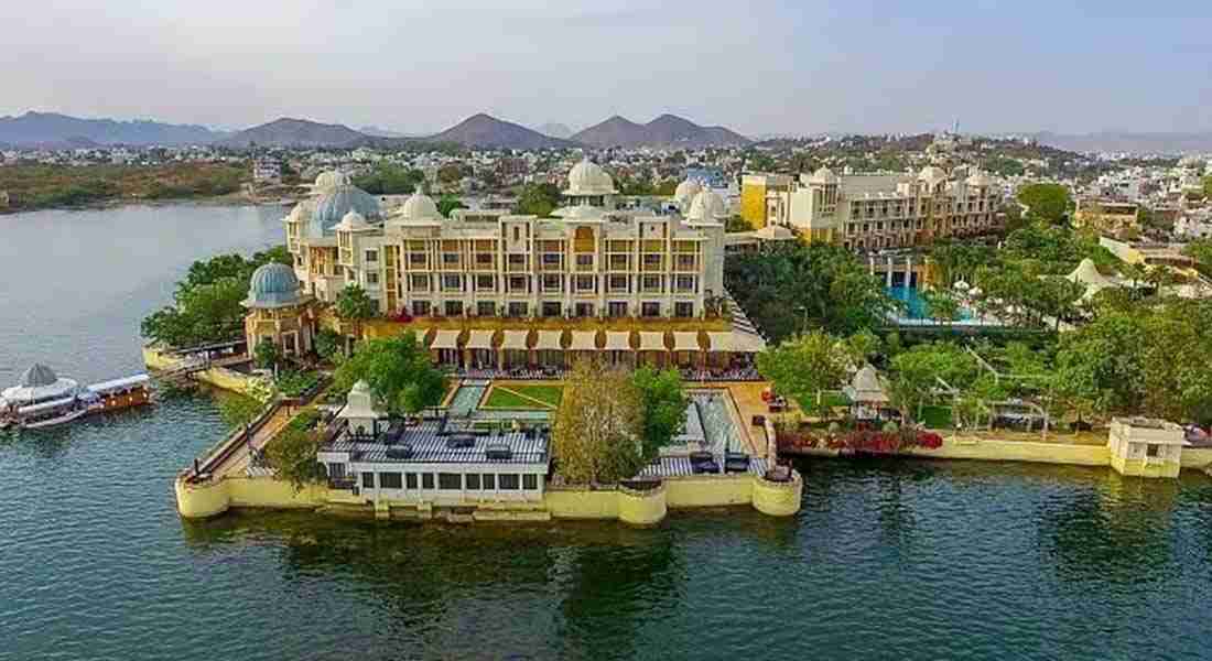
[[(0, 367), (137, 371), (138, 319), (188, 262), (262, 247), (279, 216), (0, 217)], [(221, 433), (198, 394), (0, 437), (0, 660), (1212, 655), (1201, 474), (821, 461), (785, 520), (182, 522), (172, 477)]]

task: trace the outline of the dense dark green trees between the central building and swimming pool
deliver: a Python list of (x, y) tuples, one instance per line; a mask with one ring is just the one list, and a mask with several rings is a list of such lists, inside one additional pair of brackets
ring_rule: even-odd
[(724, 281), (773, 342), (810, 329), (850, 334), (881, 326), (896, 309), (882, 280), (840, 246), (788, 241), (730, 255)]

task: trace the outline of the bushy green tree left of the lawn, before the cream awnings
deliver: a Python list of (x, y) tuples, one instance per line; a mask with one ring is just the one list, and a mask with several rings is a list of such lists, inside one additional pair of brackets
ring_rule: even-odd
[(333, 389), (348, 392), (358, 381), (365, 381), (377, 403), (393, 415), (436, 406), (446, 394), (446, 376), (434, 367), (413, 331), (359, 343), (354, 355), (337, 367)]

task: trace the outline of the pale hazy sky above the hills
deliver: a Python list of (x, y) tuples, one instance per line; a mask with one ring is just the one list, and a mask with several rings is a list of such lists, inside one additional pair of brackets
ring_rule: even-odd
[(1212, 131), (1212, 0), (5, 0), (0, 114)]

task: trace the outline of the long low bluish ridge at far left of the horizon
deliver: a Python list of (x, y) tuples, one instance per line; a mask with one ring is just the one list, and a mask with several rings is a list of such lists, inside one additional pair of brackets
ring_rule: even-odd
[(208, 144), (224, 136), (225, 133), (205, 126), (149, 120), (80, 119), (34, 112), (19, 116), (0, 116), (0, 143), (15, 147)]

